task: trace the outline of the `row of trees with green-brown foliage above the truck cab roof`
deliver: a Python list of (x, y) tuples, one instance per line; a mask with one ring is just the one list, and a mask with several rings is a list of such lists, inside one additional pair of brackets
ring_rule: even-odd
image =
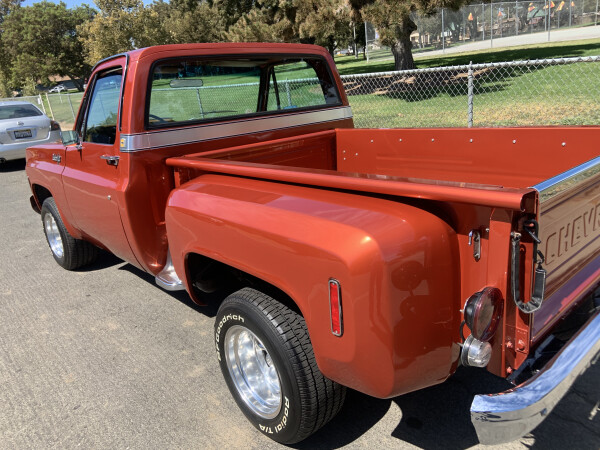
[[(32, 91), (53, 75), (79, 83), (98, 60), (150, 45), (184, 42), (298, 42), (336, 48), (364, 42), (363, 21), (389, 46), (396, 69), (414, 67), (411, 14), (468, 0), (95, 0), (67, 8), (0, 0), (0, 90)], [(354, 30), (357, 35), (353, 36)]]

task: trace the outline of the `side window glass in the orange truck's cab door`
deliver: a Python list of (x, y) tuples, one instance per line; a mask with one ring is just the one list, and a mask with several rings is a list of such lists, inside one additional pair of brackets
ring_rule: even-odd
[(121, 79), (121, 69), (111, 70), (96, 79), (86, 116), (83, 135), (85, 142), (115, 143)]

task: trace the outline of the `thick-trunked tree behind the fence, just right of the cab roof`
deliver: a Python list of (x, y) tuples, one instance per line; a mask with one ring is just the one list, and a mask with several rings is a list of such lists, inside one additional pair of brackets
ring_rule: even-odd
[(414, 69), (410, 35), (417, 29), (412, 12), (434, 14), (439, 8), (458, 9), (468, 0), (350, 0), (363, 20), (375, 25), (383, 45), (392, 49), (396, 70)]

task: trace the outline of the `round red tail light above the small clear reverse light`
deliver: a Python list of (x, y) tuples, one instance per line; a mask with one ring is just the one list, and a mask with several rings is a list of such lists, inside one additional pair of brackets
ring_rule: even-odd
[(500, 289), (486, 287), (467, 300), (465, 323), (476, 339), (489, 341), (498, 329), (503, 309), (504, 300)]

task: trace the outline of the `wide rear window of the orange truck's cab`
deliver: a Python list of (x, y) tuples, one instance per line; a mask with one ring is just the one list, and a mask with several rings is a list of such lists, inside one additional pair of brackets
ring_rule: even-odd
[(170, 59), (154, 65), (149, 90), (150, 128), (341, 104), (315, 57)]

